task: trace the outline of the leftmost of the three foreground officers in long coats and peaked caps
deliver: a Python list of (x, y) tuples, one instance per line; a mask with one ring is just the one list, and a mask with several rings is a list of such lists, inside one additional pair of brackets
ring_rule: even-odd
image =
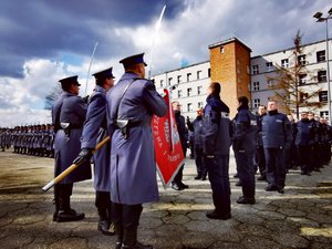
[[(82, 97), (77, 96), (80, 91), (77, 76), (62, 79), (60, 83), (63, 93), (54, 102), (52, 107), (52, 123), (54, 124), (55, 131), (55, 177), (64, 172), (80, 153), (80, 138), (82, 136), (83, 123), (87, 110), (87, 104)], [(54, 221), (73, 221), (85, 217), (83, 212), (76, 212), (71, 208), (70, 198), (73, 183), (90, 178), (91, 166), (90, 162), (86, 162), (54, 186)]]

